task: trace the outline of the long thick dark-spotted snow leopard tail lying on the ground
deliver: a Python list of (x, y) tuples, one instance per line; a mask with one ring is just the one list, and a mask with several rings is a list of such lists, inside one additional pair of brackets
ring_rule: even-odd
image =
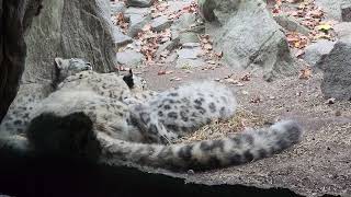
[(109, 140), (100, 135), (98, 138), (109, 159), (172, 171), (202, 171), (270, 157), (298, 143), (302, 135), (302, 127), (296, 121), (284, 120), (269, 128), (248, 129), (234, 137), (171, 146)]

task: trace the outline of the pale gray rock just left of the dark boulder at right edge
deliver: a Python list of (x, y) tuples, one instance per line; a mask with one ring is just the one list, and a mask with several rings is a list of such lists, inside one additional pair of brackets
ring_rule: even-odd
[(306, 47), (303, 58), (309, 66), (315, 67), (322, 56), (328, 55), (331, 51), (335, 44), (335, 42), (330, 40), (318, 40)]

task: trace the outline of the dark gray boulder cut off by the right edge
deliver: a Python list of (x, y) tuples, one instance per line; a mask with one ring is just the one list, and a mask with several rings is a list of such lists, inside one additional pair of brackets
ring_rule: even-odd
[(351, 101), (351, 36), (337, 42), (318, 68), (324, 71), (321, 92), (326, 97)]

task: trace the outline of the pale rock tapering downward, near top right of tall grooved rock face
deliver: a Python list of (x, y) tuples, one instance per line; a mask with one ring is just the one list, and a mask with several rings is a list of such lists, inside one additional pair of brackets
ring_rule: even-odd
[(151, 20), (149, 9), (136, 9), (128, 8), (124, 15), (129, 19), (128, 35), (131, 37), (137, 36), (137, 34), (143, 30), (143, 27), (148, 24)]

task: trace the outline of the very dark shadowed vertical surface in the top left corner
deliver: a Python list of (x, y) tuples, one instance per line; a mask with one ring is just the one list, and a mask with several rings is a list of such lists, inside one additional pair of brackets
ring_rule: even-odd
[(24, 34), (42, 0), (0, 0), (0, 123), (16, 95), (24, 70)]

